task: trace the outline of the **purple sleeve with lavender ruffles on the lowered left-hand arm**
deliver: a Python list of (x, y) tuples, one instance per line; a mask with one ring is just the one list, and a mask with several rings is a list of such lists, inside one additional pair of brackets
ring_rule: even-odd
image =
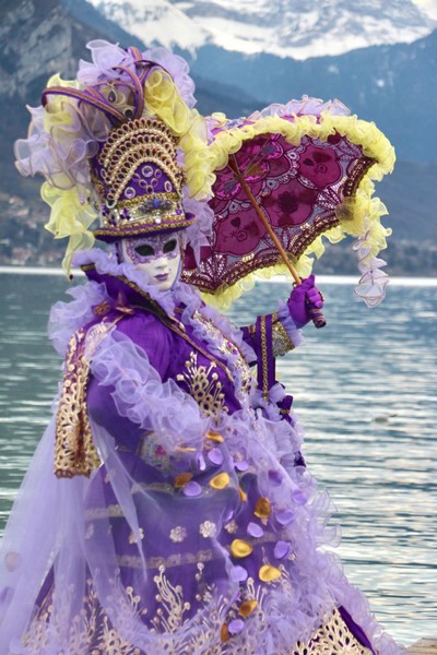
[[(137, 443), (153, 432), (167, 454), (203, 442), (209, 419), (194, 398), (163, 371), (170, 358), (166, 327), (154, 321), (126, 321), (125, 330), (111, 331), (92, 356), (87, 408), (92, 420), (105, 427), (117, 443)], [(140, 342), (140, 343), (138, 343)]]

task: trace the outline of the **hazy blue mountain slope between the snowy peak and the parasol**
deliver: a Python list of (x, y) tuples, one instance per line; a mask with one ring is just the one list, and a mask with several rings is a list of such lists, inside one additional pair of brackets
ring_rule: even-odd
[[(406, 46), (371, 46), (306, 61), (272, 55), (244, 57), (213, 46), (189, 60), (194, 79), (213, 71), (216, 84), (257, 98), (258, 107), (302, 95), (339, 98), (359, 118), (375, 121), (405, 160), (437, 160), (437, 31)], [(238, 75), (236, 74), (238, 71)]]

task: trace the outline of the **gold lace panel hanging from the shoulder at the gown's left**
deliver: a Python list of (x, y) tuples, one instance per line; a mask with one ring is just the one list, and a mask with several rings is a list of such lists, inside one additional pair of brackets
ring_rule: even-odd
[(72, 478), (75, 475), (88, 477), (101, 466), (86, 407), (91, 366), (88, 357), (108, 330), (121, 318), (122, 315), (113, 323), (98, 323), (87, 332), (81, 327), (70, 340), (61, 397), (56, 415), (55, 475), (59, 478)]

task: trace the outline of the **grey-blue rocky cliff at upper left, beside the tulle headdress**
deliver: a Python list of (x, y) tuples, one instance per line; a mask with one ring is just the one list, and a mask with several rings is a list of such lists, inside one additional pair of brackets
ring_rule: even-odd
[[(98, 17), (98, 14), (97, 14)], [(79, 21), (60, 0), (2, 0), (0, 3), (0, 190), (22, 188), (13, 166), (13, 142), (25, 136), (26, 105), (40, 103), (54, 72), (69, 79), (86, 43), (107, 37)], [(28, 182), (25, 182), (26, 186)]]

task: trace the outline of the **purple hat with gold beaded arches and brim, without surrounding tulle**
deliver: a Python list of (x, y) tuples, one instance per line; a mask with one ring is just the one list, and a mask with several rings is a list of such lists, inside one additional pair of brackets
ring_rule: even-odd
[(156, 118), (133, 119), (111, 130), (92, 159), (92, 181), (102, 201), (94, 236), (104, 241), (181, 229), (194, 219), (184, 210), (177, 139)]

